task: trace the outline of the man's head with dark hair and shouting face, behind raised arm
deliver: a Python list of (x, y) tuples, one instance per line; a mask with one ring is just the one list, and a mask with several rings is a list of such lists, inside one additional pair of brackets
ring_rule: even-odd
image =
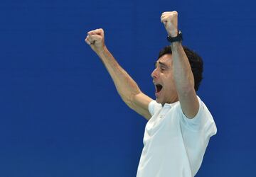
[[(196, 52), (189, 50), (188, 47), (183, 49), (191, 64), (191, 70), (193, 72), (195, 90), (198, 91), (198, 87), (203, 79), (203, 60)], [(158, 103), (173, 103), (178, 101), (178, 94), (174, 82), (171, 47), (166, 46), (159, 52), (159, 59), (156, 62), (156, 69), (152, 72), (153, 82), (156, 86), (156, 101)]]

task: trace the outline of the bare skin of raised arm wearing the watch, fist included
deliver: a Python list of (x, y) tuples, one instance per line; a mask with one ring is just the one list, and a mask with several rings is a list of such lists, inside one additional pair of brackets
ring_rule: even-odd
[[(161, 16), (166, 31), (172, 38), (178, 35), (178, 13), (164, 12)], [(178, 92), (178, 101), (187, 118), (194, 118), (198, 113), (199, 103), (194, 89), (194, 78), (188, 57), (183, 50), (181, 41), (171, 42), (171, 51), (174, 67), (174, 80)]]

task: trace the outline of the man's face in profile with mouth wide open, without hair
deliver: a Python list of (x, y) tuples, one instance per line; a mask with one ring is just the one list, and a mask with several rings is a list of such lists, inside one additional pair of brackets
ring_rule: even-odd
[(178, 101), (172, 66), (172, 56), (166, 54), (156, 61), (156, 69), (151, 73), (156, 87), (156, 102), (162, 105)]

